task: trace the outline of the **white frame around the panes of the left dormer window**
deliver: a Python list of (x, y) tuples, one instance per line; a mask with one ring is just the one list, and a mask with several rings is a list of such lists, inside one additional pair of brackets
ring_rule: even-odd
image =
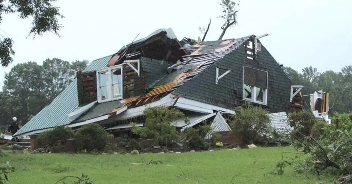
[[(117, 97), (117, 98), (113, 98), (113, 88), (112, 88), (112, 75), (111, 75), (111, 71), (112, 70), (116, 70), (116, 69), (120, 69), (121, 70), (121, 84), (119, 85), (120, 89), (121, 89), (121, 96)], [(108, 91), (108, 96), (105, 100), (101, 99), (101, 91), (100, 91), (100, 79), (99, 79), (99, 73), (101, 72), (108, 72), (108, 85), (106, 86), (106, 91)], [(122, 65), (116, 65), (116, 66), (110, 66), (110, 67), (106, 67), (106, 68), (101, 68), (99, 70), (96, 71), (96, 87), (97, 87), (97, 93), (98, 93), (98, 103), (103, 103), (103, 102), (107, 102), (107, 101), (113, 101), (113, 100), (120, 100), (123, 98), (123, 80), (124, 80), (124, 76), (123, 76), (123, 72), (122, 72)]]

